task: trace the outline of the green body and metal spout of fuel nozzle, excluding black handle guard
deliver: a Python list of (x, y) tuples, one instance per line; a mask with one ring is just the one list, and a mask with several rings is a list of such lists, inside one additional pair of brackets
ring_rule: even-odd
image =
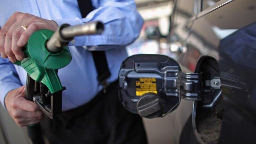
[(60, 91), (63, 88), (57, 70), (67, 66), (72, 59), (68, 43), (75, 36), (103, 31), (104, 25), (99, 21), (77, 26), (63, 24), (56, 32), (47, 29), (36, 31), (23, 48), (26, 58), (14, 64), (22, 66), (33, 80), (45, 84), (51, 93)]

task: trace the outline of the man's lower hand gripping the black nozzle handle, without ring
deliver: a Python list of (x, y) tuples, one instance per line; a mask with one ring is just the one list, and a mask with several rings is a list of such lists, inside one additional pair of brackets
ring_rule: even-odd
[(5, 106), (11, 117), (19, 126), (39, 123), (42, 112), (32, 101), (25, 99), (25, 86), (11, 90), (5, 97)]

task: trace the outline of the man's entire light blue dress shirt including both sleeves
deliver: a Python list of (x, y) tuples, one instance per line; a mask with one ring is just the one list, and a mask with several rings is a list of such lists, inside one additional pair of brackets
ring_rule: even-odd
[[(92, 0), (93, 10), (81, 18), (77, 0), (0, 0), (0, 26), (15, 12), (30, 13), (59, 25), (77, 25), (100, 20), (105, 25), (102, 35), (76, 37), (70, 43), (71, 63), (59, 70), (63, 86), (62, 110), (68, 110), (89, 102), (102, 86), (98, 86), (97, 71), (89, 50), (106, 50), (111, 72), (109, 82), (118, 77), (122, 61), (127, 57), (125, 46), (139, 35), (143, 20), (136, 10), (134, 0)], [(99, 46), (102, 45), (102, 46)], [(87, 46), (87, 47), (86, 47)], [(0, 101), (12, 89), (26, 84), (26, 71), (0, 58)]]

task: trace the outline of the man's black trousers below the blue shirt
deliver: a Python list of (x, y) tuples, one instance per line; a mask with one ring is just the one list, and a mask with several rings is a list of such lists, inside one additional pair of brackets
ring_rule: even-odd
[(147, 143), (141, 117), (128, 112), (119, 101), (117, 82), (83, 106), (53, 120), (44, 117), (41, 127), (51, 144)]

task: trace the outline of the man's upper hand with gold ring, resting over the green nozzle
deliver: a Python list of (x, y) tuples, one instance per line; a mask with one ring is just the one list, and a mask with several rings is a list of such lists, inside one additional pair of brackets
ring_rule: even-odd
[[(21, 26), (27, 25), (27, 30)], [(40, 29), (50, 29), (56, 31), (58, 25), (51, 20), (40, 17), (15, 12), (0, 29), (0, 52), (2, 58), (9, 58), (11, 62), (22, 60), (25, 56), (22, 51), (30, 35)]]

